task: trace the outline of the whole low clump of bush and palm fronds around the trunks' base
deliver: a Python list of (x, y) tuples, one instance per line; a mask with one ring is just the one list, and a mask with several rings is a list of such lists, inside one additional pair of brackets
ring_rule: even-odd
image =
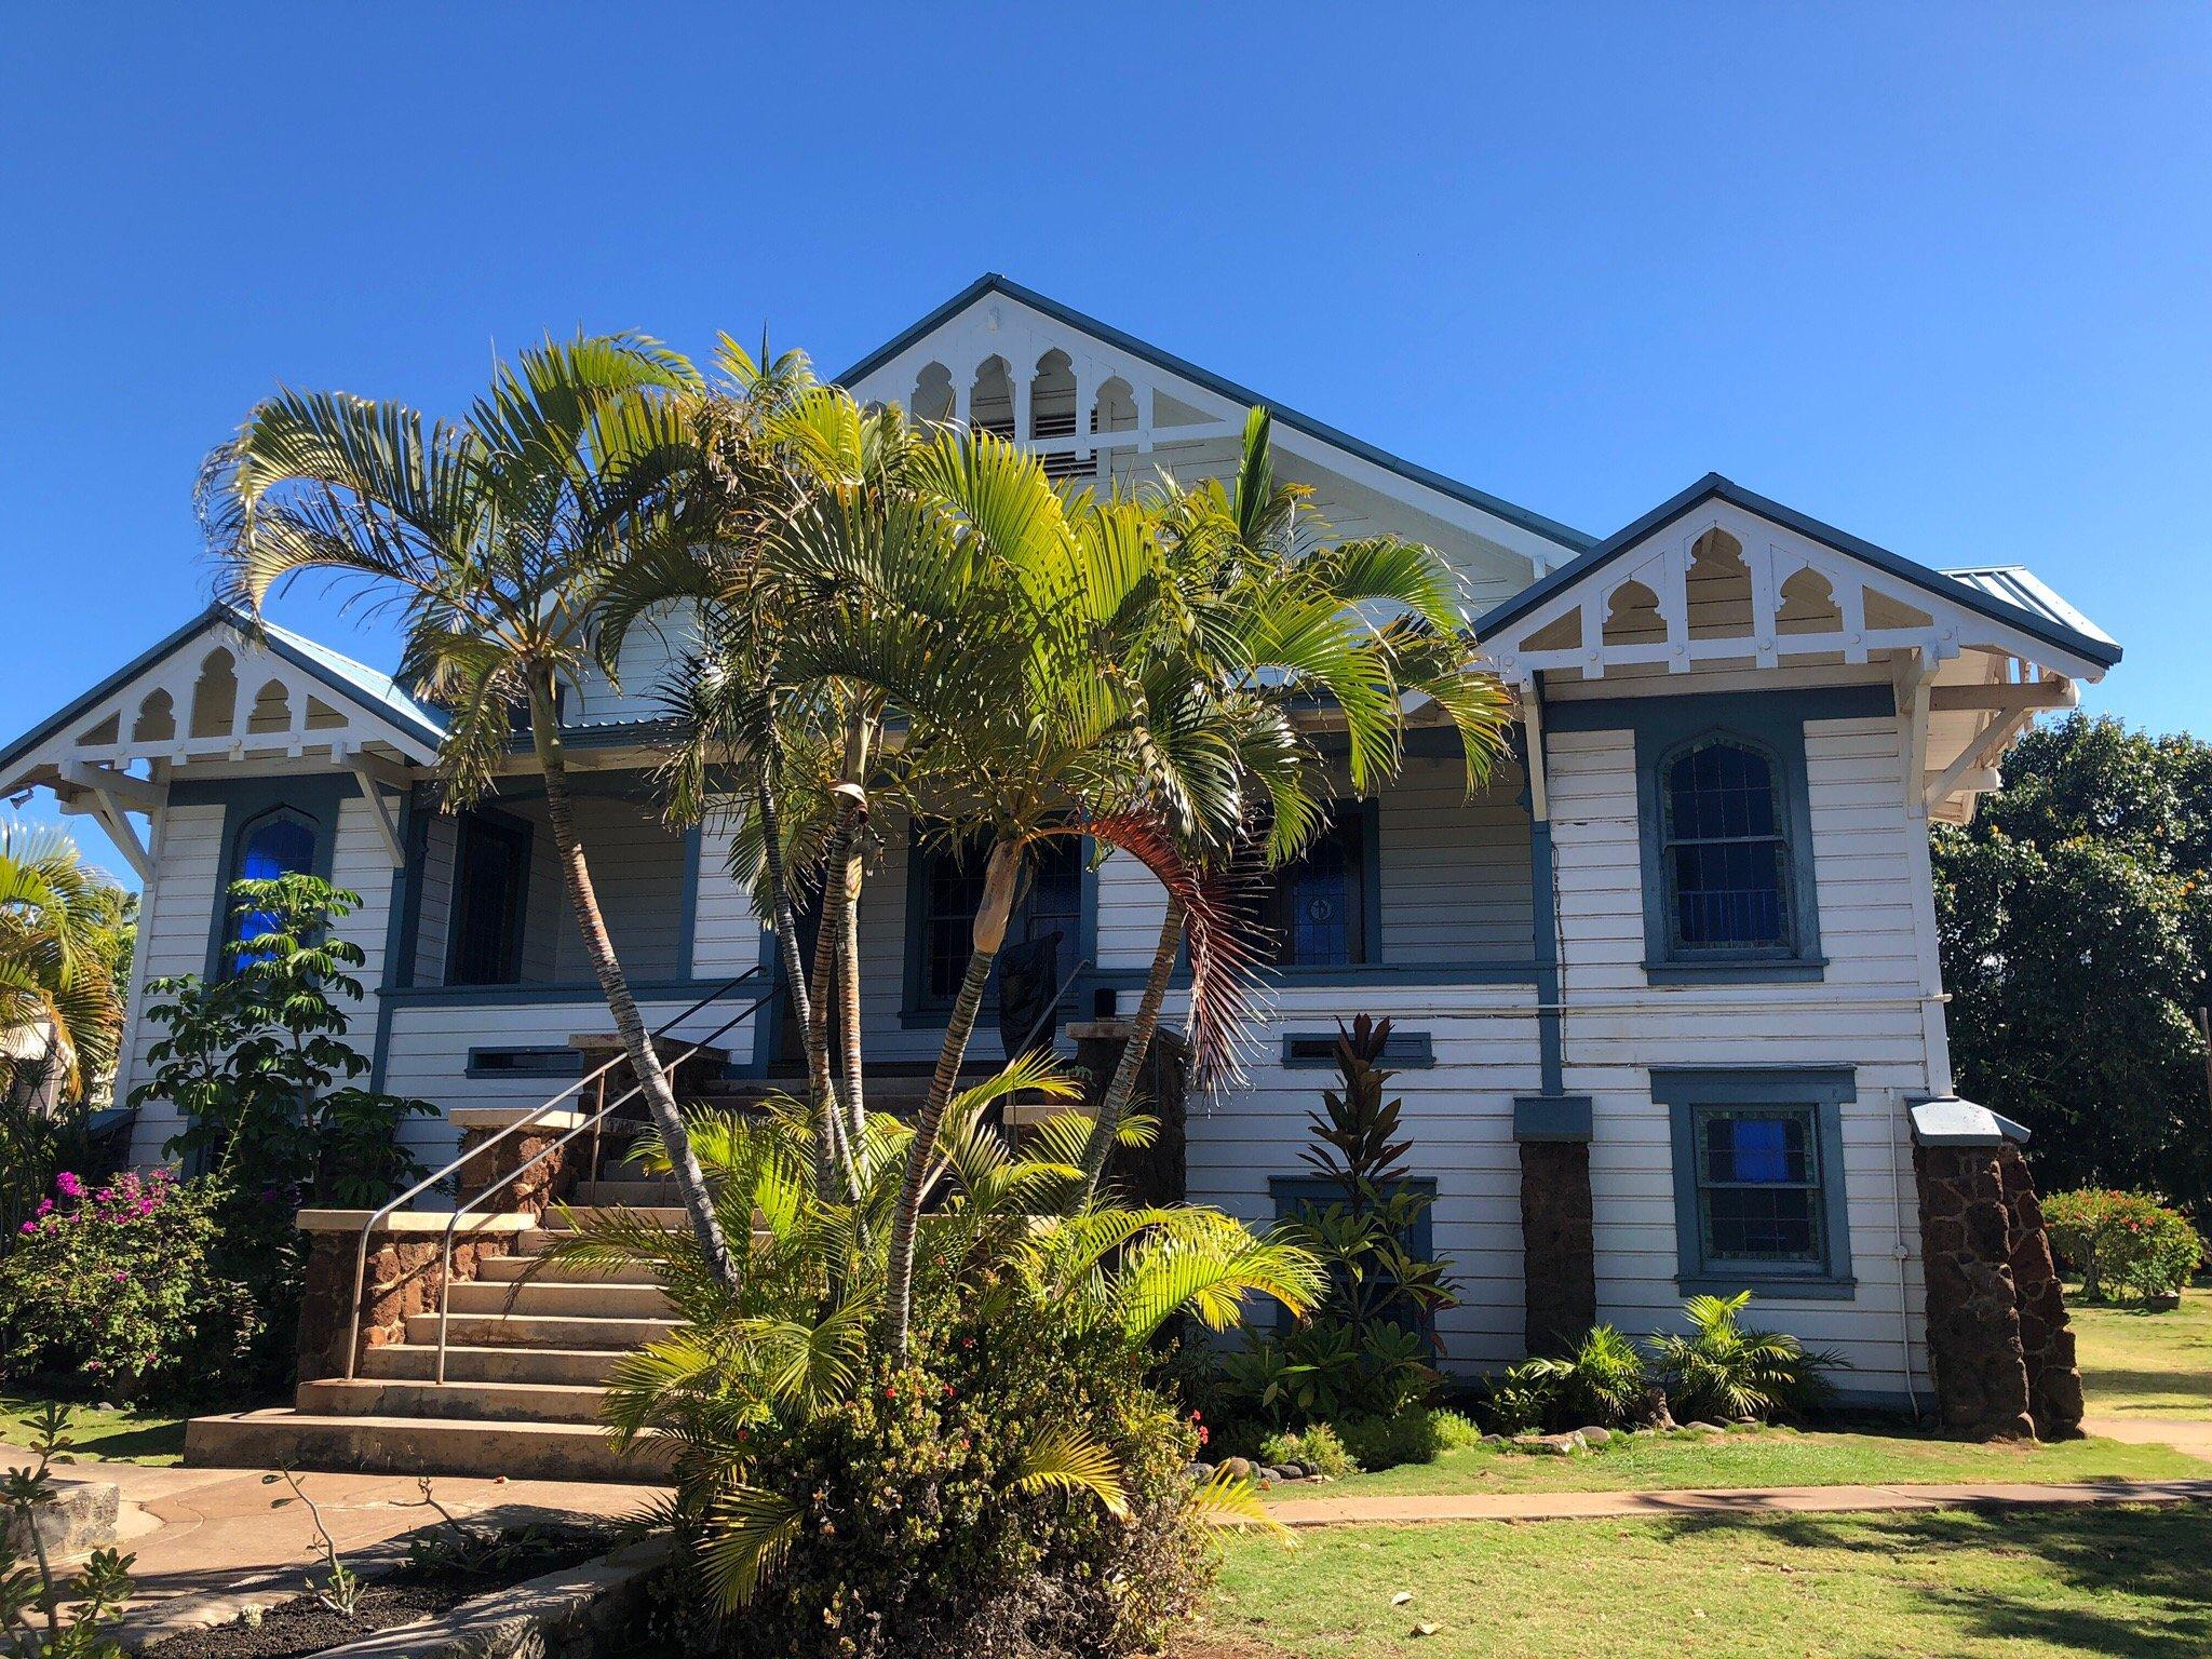
[[(1312, 1305), (1318, 1265), (1217, 1210), (1084, 1201), (1088, 1124), (1073, 1115), (1022, 1152), (989, 1121), (1013, 1093), (1075, 1088), (1031, 1055), (953, 1097), (927, 1157), (907, 1349), (878, 1318), (885, 1221), (914, 1148), (887, 1115), (867, 1119), (854, 1201), (812, 1179), (807, 1102), (692, 1119), (723, 1225), (748, 1241), (734, 1285), (692, 1234), (622, 1212), (568, 1217), (573, 1237), (546, 1252), (648, 1263), (686, 1321), (617, 1363), (606, 1418), (619, 1442), (670, 1449), (661, 1520), (710, 1601), (748, 1608), (748, 1644), (770, 1650), (792, 1619), (818, 1635), (823, 1606), (860, 1617), (889, 1601), (953, 1630), (1022, 1575), (1079, 1559), (1077, 1579), (1106, 1584), (1194, 1513), (1265, 1520), (1248, 1482), (1188, 1482), (1197, 1436), (1150, 1369), (1177, 1318), (1225, 1329), (1254, 1296)], [(1133, 1119), (1126, 1135), (1150, 1128)], [(664, 1164), (666, 1148), (648, 1141), (641, 1159)], [(1130, 1582), (1152, 1595), (1164, 1579)], [(1097, 1650), (1124, 1648), (1099, 1635)]]

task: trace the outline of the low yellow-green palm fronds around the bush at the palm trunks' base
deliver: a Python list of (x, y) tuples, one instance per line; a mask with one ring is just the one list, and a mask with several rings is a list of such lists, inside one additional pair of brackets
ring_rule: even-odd
[[(1259, 1239), (1219, 1210), (1075, 1199), (1084, 1133), (1075, 1119), (1044, 1124), (1013, 1155), (984, 1117), (1013, 1093), (1068, 1097), (1075, 1088), (1046, 1057), (1029, 1055), (962, 1091), (927, 1146), (876, 1117), (858, 1148), (860, 1190), (838, 1203), (812, 1190), (807, 1102), (770, 1099), (759, 1119), (692, 1121), (697, 1157), (732, 1228), (741, 1214), (757, 1219), (734, 1285), (706, 1270), (695, 1241), (619, 1212), (571, 1217), (573, 1230), (542, 1256), (544, 1265), (648, 1265), (684, 1316), (684, 1329), (617, 1363), (604, 1413), (622, 1444), (657, 1433), (672, 1447), (675, 1495), (661, 1515), (697, 1540), (692, 1566), (726, 1613), (754, 1597), (801, 1542), (810, 1504), (823, 1502), (818, 1491), (759, 1484), (757, 1464), (810, 1418), (849, 1407), (872, 1376), (880, 1383), (874, 1367), (896, 1363), (889, 1343), (872, 1352), (872, 1334), (883, 1329), (889, 1294), (885, 1223), (916, 1155), (947, 1188), (922, 1219), (931, 1305), (958, 1307), (960, 1327), (993, 1329), (1037, 1310), (1146, 1358), (1177, 1316), (1221, 1332), (1250, 1298), (1292, 1312), (1318, 1298), (1321, 1272), (1305, 1250)], [(646, 1159), (666, 1166), (666, 1144), (650, 1144)], [(1006, 1473), (1006, 1500), (1057, 1489), (1126, 1515), (1121, 1447), (1091, 1416), (1035, 1425)], [(1250, 1482), (1232, 1475), (1217, 1473), (1188, 1504), (1267, 1524)], [(807, 1535), (834, 1548), (834, 1531)]]

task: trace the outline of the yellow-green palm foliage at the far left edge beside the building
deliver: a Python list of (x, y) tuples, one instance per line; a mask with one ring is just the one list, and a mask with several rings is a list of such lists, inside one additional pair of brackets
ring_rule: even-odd
[[(126, 911), (126, 894), (66, 834), (0, 823), (0, 1033), (35, 1035), (69, 1091), (115, 1066)], [(0, 1084), (13, 1073), (0, 1057)]]

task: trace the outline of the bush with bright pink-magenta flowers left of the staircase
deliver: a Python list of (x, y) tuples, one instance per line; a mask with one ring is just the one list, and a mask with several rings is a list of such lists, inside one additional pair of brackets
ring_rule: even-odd
[(221, 1385), (263, 1327), (252, 1287), (215, 1267), (223, 1194), (168, 1170), (53, 1186), (0, 1261), (0, 1378), (106, 1400)]

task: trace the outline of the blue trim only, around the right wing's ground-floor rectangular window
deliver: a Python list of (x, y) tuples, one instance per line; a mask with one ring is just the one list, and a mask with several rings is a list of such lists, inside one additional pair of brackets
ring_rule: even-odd
[[(1683, 1294), (1730, 1296), (1754, 1290), (1763, 1296), (1803, 1301), (1851, 1301), (1851, 1210), (1843, 1170), (1843, 1106), (1858, 1099), (1849, 1066), (1655, 1066), (1652, 1104), (1668, 1108), (1674, 1152), (1674, 1285)], [(1823, 1261), (1745, 1263), (1705, 1261), (1703, 1225), (1697, 1212), (1697, 1110), (1703, 1106), (1794, 1106), (1812, 1113), (1820, 1155)]]

